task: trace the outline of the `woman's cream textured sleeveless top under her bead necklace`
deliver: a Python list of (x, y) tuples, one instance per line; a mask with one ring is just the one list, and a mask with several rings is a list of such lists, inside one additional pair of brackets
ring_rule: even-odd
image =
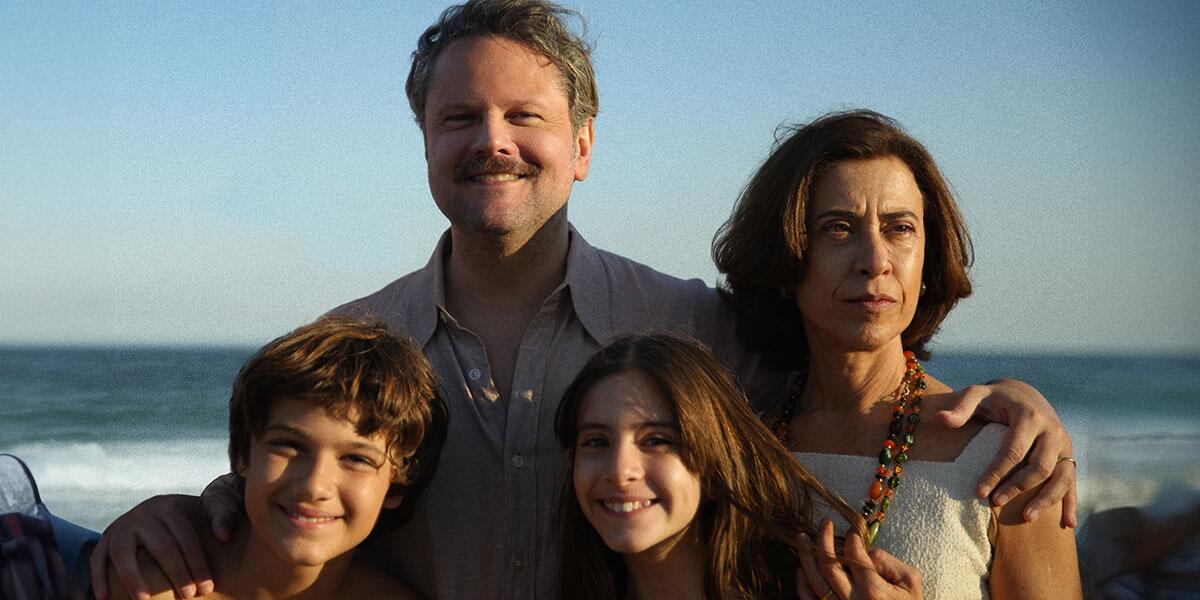
[[(989, 598), (991, 509), (986, 500), (976, 497), (974, 490), (984, 468), (996, 456), (1003, 434), (1003, 425), (989, 424), (954, 462), (912, 460), (904, 466), (900, 487), (880, 526), (875, 547), (916, 566), (926, 599)], [(841, 494), (851, 509), (862, 509), (877, 458), (793, 454), (826, 487)], [(846, 521), (820, 504), (815, 516), (817, 524), (829, 517), (839, 533), (846, 530)]]

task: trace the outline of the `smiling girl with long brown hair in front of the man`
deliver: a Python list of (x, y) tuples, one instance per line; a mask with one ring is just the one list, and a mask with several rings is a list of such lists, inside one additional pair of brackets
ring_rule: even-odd
[[(556, 433), (571, 474), (562, 598), (792, 598), (798, 556), (814, 552), (799, 538), (816, 535), (814, 506), (862, 530), (689, 340), (611, 342), (568, 388)], [(832, 554), (832, 527), (823, 533)], [(858, 533), (848, 539), (858, 587), (872, 598), (920, 596), (914, 570), (868, 556)]]

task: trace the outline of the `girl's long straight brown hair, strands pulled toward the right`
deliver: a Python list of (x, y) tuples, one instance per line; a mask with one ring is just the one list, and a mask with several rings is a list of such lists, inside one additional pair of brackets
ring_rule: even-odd
[[(601, 379), (641, 371), (679, 420), (684, 464), (703, 490), (697, 517), (704, 540), (704, 596), (792, 598), (799, 534), (815, 538), (814, 502), (856, 523), (862, 518), (827, 491), (750, 409), (720, 361), (700, 342), (668, 334), (620, 337), (593, 356), (566, 389), (556, 416), (564, 449), (575, 448), (580, 403)], [(583, 516), (568, 476), (559, 506), (562, 598), (614, 600), (628, 574)]]

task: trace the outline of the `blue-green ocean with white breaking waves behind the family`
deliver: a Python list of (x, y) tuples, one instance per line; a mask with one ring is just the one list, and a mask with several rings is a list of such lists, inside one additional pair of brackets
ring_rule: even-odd
[[(0, 348), (0, 452), (22, 457), (53, 512), (102, 530), (158, 493), (229, 468), (229, 388), (252, 348)], [(1200, 502), (1200, 356), (935, 355), (953, 386), (1012, 376), (1075, 442), (1081, 520)]]

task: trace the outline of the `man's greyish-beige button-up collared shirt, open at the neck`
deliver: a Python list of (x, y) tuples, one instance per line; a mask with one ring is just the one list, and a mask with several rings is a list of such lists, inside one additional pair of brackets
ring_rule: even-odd
[(756, 368), (732, 316), (703, 282), (594, 248), (574, 228), (569, 235), (566, 277), (521, 340), (508, 400), (497, 392), (480, 338), (445, 307), (449, 233), (425, 268), (334, 311), (366, 314), (412, 336), (433, 365), (450, 412), (437, 473), (413, 520), (367, 551), (427, 598), (557, 595), (566, 458), (554, 439), (554, 412), (605, 341), (683, 332), (743, 376)]

